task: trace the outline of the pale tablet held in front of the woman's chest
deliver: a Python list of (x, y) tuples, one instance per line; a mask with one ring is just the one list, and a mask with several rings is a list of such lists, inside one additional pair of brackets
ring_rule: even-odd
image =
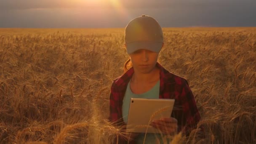
[(131, 98), (126, 131), (133, 133), (160, 133), (149, 124), (152, 120), (171, 117), (175, 99)]

